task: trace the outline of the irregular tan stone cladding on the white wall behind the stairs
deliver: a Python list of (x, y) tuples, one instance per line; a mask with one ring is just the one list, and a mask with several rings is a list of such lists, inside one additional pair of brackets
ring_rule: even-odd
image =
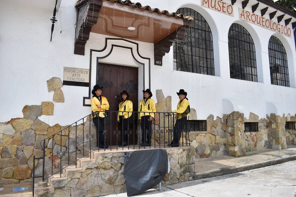
[[(64, 102), (62, 86), (60, 78), (53, 77), (47, 80), (48, 91), (54, 91), (53, 102), (55, 103)], [(54, 103), (51, 101), (41, 102), (39, 105), (26, 105), (22, 112), (23, 117), (0, 123), (0, 185), (31, 182), (33, 156), (43, 156), (43, 139), (64, 128), (59, 124), (50, 127), (47, 123), (38, 119), (41, 115), (54, 114)], [(85, 125), (85, 132), (88, 132), (89, 121), (82, 124)], [(77, 126), (78, 134), (82, 134), (82, 124)], [(73, 138), (73, 131), (75, 131), (75, 127), (69, 128), (70, 134), (68, 134), (67, 129), (67, 132), (64, 131), (61, 135), (55, 135), (45, 141), (45, 168), (51, 167), (51, 159), (55, 161), (55, 166), (59, 165), (60, 155), (57, 152), (60, 149), (62, 151), (68, 150), (68, 139)], [(95, 127), (91, 125), (90, 128), (91, 132), (95, 133)], [(77, 144), (81, 144), (85, 140), (85, 136), (83, 137), (81, 134), (77, 138)], [(60, 138), (62, 142), (60, 142)], [(70, 142), (72, 141), (73, 139), (70, 139)], [(77, 148), (79, 151), (79, 147)], [(75, 145), (74, 148), (69, 148), (70, 153), (75, 150)], [(52, 152), (54, 153), (53, 156)], [(68, 155), (64, 156), (64, 159), (68, 159)], [(43, 160), (35, 160), (35, 175), (42, 175), (42, 165)]]

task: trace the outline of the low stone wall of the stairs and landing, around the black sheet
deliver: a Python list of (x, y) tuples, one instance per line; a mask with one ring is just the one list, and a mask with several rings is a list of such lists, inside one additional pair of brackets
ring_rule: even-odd
[[(103, 196), (125, 192), (125, 152), (96, 152), (95, 159), (80, 163), (80, 168), (67, 169), (65, 177), (51, 178), (49, 186), (35, 188), (35, 196)], [(195, 150), (175, 147), (168, 148), (167, 153), (170, 171), (162, 185), (192, 180)]]

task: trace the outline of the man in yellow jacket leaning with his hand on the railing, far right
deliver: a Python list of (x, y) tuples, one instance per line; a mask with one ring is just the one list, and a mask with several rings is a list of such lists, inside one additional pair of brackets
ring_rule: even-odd
[(171, 147), (179, 147), (179, 140), (183, 129), (185, 129), (187, 117), (190, 113), (189, 101), (188, 98), (186, 98), (187, 92), (181, 89), (179, 92), (177, 92), (177, 94), (180, 100), (177, 105), (177, 110), (172, 111), (172, 113), (176, 113), (176, 123), (174, 126), (174, 139), (172, 140), (171, 144), (169, 144)]

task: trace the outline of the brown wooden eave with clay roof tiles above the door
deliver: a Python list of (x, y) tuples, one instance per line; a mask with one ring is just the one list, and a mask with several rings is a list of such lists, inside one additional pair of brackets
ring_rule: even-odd
[[(92, 32), (154, 43), (154, 54), (162, 62), (162, 56), (169, 52), (173, 42), (183, 40), (185, 29), (194, 20), (191, 16), (151, 9), (129, 0), (79, 0), (76, 8), (74, 54), (80, 55), (84, 55), (85, 44)], [(135, 30), (128, 30), (128, 27)]]

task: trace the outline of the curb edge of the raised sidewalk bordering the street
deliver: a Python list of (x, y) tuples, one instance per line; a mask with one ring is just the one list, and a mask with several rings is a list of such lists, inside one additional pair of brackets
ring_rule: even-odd
[(232, 174), (232, 173), (236, 173), (236, 172), (252, 170), (252, 169), (266, 167), (266, 166), (272, 166), (272, 165), (285, 163), (285, 162), (289, 162), (289, 161), (294, 161), (294, 160), (296, 160), (296, 155), (290, 156), (290, 157), (285, 157), (285, 158), (267, 160), (267, 161), (263, 161), (263, 162), (245, 164), (243, 166), (225, 167), (225, 168), (220, 168), (217, 170), (209, 170), (209, 171), (205, 171), (205, 172), (195, 173), (193, 179), (196, 180), (196, 179), (204, 179), (204, 178), (220, 176), (220, 175), (227, 175), (227, 174)]

